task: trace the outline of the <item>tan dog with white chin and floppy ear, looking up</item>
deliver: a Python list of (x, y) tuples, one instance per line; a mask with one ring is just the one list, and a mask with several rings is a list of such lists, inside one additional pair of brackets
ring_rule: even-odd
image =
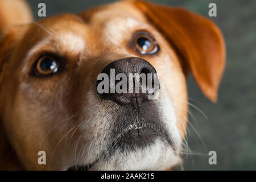
[[(211, 20), (135, 0), (38, 21), (23, 1), (1, 0), (0, 9), (1, 169), (169, 170), (182, 162), (187, 77), (216, 102), (224, 72), (224, 38)], [(99, 93), (98, 76), (111, 69), (157, 75), (158, 96)]]

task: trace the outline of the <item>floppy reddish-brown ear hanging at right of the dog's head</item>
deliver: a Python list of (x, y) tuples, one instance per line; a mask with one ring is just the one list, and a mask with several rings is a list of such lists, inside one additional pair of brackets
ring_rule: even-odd
[(225, 43), (217, 26), (185, 9), (132, 2), (175, 48), (205, 96), (216, 102), (225, 67)]

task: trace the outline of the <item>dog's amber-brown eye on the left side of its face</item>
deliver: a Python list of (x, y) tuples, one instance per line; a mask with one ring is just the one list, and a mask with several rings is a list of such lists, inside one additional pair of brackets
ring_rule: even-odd
[(59, 69), (59, 61), (52, 56), (42, 56), (35, 65), (36, 75), (47, 76), (56, 73)]

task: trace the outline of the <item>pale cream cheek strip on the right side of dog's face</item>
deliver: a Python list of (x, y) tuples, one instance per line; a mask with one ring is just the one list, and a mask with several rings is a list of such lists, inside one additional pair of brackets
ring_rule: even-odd
[[(186, 76), (174, 49), (169, 46), (162, 36), (159, 35), (158, 39), (161, 42), (161, 52), (151, 62), (159, 75), (160, 86), (162, 86), (160, 92), (164, 95), (162, 98), (171, 101), (177, 118), (176, 126), (184, 138), (188, 109)], [(166, 108), (168, 107), (166, 106)]]

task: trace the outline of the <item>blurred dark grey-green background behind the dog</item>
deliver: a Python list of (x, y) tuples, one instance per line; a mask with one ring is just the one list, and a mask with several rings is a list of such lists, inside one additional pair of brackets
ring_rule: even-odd
[[(47, 16), (79, 13), (111, 0), (28, 0), (35, 18), (38, 3), (46, 3)], [(195, 155), (184, 155), (184, 163), (176, 169), (185, 170), (246, 170), (256, 169), (256, 1), (160, 0), (152, 1), (185, 7), (208, 16), (208, 5), (217, 5), (212, 19), (226, 41), (226, 69), (221, 82), (218, 102), (212, 104), (188, 79), (189, 102), (205, 115), (190, 107), (188, 145)], [(199, 137), (200, 136), (200, 137)], [(201, 139), (200, 139), (201, 138)], [(203, 142), (202, 142), (203, 140)], [(205, 145), (204, 145), (205, 143)], [(209, 165), (208, 152), (217, 152), (217, 165)]]

